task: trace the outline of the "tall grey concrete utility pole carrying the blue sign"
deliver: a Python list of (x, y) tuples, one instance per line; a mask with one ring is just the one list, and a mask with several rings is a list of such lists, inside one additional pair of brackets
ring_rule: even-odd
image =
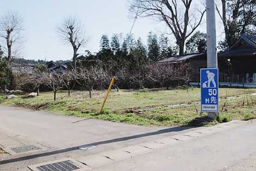
[[(216, 48), (216, 21), (215, 0), (206, 0), (206, 24), (207, 24), (207, 67), (217, 68)], [(216, 113), (208, 113), (209, 118), (214, 118)]]

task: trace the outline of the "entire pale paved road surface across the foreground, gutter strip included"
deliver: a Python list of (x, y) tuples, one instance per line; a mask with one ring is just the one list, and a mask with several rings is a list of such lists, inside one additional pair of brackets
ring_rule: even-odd
[[(0, 118), (0, 145), (10, 153), (0, 155), (1, 171), (66, 157), (89, 170), (256, 170), (256, 121), (159, 128), (1, 105)], [(11, 150), (32, 144), (41, 150)]]

